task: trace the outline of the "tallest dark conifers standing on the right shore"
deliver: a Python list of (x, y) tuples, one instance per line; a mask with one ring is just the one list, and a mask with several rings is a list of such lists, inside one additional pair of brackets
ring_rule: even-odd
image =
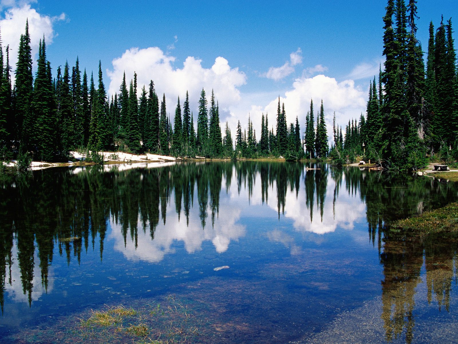
[(458, 160), (458, 74), (452, 19), (444, 22), (442, 17), (436, 30), (430, 23), (425, 66), (416, 37), (416, 3), (387, 1), (385, 69), (380, 68), (378, 83), (375, 77), (370, 82), (367, 117), (361, 115), (356, 128), (347, 127), (345, 141), (351, 143), (343, 146), (340, 133), (334, 133), (331, 155), (337, 163), (346, 155), (364, 154), (391, 169), (415, 170), (428, 159)]

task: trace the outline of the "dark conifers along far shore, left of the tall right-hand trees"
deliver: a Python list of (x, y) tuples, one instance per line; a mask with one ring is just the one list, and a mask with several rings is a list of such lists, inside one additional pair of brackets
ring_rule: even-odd
[(156, 92), (153, 80), (137, 94), (136, 73), (130, 81), (124, 74), (119, 93), (111, 98), (105, 90), (100, 61), (96, 77), (82, 70), (76, 58), (73, 67), (68, 62), (57, 67), (53, 78), (44, 38), (39, 42), (33, 76), (28, 21), (20, 38), (13, 87), (9, 53), (6, 46), (4, 54), (0, 41), (0, 161), (24, 156), (67, 161), (72, 150), (87, 152), (89, 157), (90, 151), (102, 150), (212, 158), (284, 156), (290, 160), (305, 157), (304, 148), (311, 158), (328, 154), (323, 105), (315, 128), (313, 101), (305, 136), (297, 117), (288, 126), (284, 104), (278, 98), (275, 129), (269, 129), (267, 113), (262, 114), (261, 133), (256, 139), (249, 117), (243, 132), (239, 121), (233, 140), (227, 122), (224, 135), (221, 131), (213, 90), (208, 103), (202, 89), (195, 127), (188, 92), (183, 103), (178, 98), (171, 119), (165, 94), (161, 97)]

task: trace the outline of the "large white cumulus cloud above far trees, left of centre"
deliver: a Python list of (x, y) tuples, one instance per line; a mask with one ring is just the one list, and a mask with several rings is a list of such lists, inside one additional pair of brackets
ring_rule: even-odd
[(191, 105), (196, 105), (202, 88), (208, 96), (213, 89), (216, 98), (225, 106), (240, 101), (240, 86), (246, 83), (246, 75), (239, 68), (231, 68), (224, 57), (217, 57), (211, 68), (204, 68), (202, 60), (193, 56), (188, 56), (181, 68), (174, 67), (174, 61), (174, 56), (164, 54), (158, 47), (126, 50), (113, 60), (113, 69), (108, 70), (109, 94), (119, 93), (124, 72), (128, 80), (136, 72), (139, 89), (152, 79), (158, 94), (165, 93), (169, 112), (178, 96), (181, 102), (184, 101), (186, 91), (189, 91)]

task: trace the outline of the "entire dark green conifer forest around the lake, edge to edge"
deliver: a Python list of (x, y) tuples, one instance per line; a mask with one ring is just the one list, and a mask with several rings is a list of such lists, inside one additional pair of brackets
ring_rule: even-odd
[[(346, 125), (333, 120), (329, 147), (323, 102), (319, 111), (311, 100), (300, 122), (288, 125), (284, 104), (278, 98), (275, 125), (262, 115), (261, 132), (251, 118), (248, 128), (240, 121), (234, 137), (228, 123), (221, 130), (215, 95), (202, 89), (196, 123), (189, 95), (176, 100), (174, 116), (166, 108), (165, 94), (156, 93), (153, 80), (137, 94), (137, 75), (124, 78), (119, 93), (106, 93), (101, 63), (97, 80), (75, 66), (58, 67), (53, 78), (40, 41), (35, 77), (28, 22), (21, 35), (12, 87), (9, 47), (0, 43), (0, 161), (67, 161), (70, 151), (158, 153), (174, 156), (261, 157), (282, 156), (353, 162), (357, 156), (396, 170), (415, 170), (428, 159), (458, 160), (458, 73), (452, 20), (434, 28), (430, 24), (426, 62), (416, 38), (415, 0), (388, 0), (383, 17), (384, 69), (369, 84), (366, 115)], [(97, 85), (97, 87), (96, 87)], [(169, 100), (168, 100), (169, 102)], [(174, 104), (174, 103), (173, 103)], [(170, 107), (170, 104), (169, 104)], [(305, 112), (305, 111), (304, 111)], [(274, 129), (275, 127), (275, 129)], [(3, 166), (3, 163), (2, 163)]]

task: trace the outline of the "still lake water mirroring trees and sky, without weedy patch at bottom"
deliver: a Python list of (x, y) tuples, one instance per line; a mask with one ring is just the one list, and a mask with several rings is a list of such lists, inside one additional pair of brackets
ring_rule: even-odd
[(199, 343), (456, 338), (456, 235), (383, 228), (457, 200), (456, 185), (316, 167), (140, 164), (2, 180), (2, 342), (64, 342), (62, 319), (169, 294), (201, 320)]

